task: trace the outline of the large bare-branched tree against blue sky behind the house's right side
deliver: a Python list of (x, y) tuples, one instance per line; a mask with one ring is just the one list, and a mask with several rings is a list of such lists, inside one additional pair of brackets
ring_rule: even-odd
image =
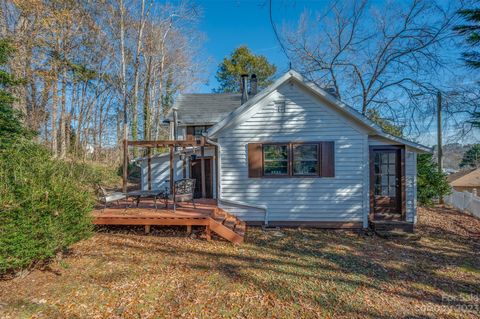
[(428, 0), (371, 4), (334, 1), (287, 33), (295, 68), (320, 86), (333, 86), (362, 114), (402, 114), (405, 103), (432, 92), (444, 66), (440, 48), (451, 37), (453, 10)]

